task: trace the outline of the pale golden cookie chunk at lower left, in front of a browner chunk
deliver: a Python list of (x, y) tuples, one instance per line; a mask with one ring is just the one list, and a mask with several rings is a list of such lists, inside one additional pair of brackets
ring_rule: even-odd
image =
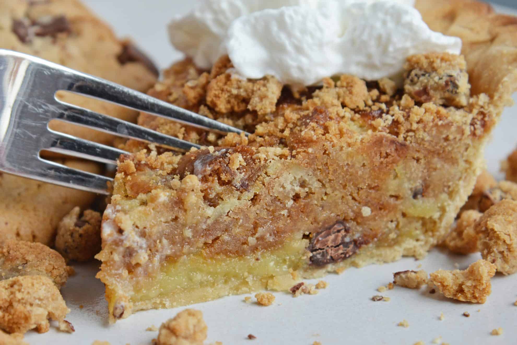
[(68, 327), (67, 308), (53, 281), (43, 276), (20, 276), (0, 281), (0, 328), (9, 333), (25, 333), (33, 328), (49, 330), (49, 319)]

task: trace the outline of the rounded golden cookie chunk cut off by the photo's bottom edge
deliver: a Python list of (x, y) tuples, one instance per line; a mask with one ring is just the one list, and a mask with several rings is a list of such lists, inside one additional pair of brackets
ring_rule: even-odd
[(180, 311), (173, 319), (162, 323), (157, 345), (203, 345), (208, 327), (203, 313), (195, 309)]

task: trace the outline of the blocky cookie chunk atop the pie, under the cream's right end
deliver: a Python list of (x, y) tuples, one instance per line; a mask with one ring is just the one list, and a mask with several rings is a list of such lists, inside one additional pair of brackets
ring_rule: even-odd
[(420, 103), (466, 106), (470, 85), (464, 57), (439, 53), (433, 57), (415, 55), (407, 59), (404, 91)]

